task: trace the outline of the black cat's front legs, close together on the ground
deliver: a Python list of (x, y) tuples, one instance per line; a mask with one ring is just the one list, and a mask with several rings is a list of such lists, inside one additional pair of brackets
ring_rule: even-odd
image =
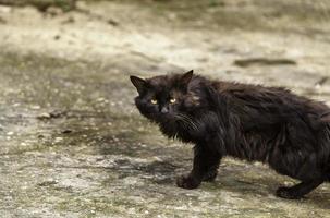
[(180, 175), (176, 185), (183, 189), (196, 189), (201, 181), (212, 181), (218, 173), (221, 155), (208, 149), (206, 146), (196, 145), (194, 148), (194, 164), (190, 173)]

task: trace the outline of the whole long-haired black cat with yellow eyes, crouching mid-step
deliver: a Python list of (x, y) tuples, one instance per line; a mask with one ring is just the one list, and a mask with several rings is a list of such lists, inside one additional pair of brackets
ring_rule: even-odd
[(330, 180), (330, 109), (288, 89), (185, 74), (131, 76), (139, 112), (163, 134), (195, 144), (192, 171), (176, 184), (212, 181), (223, 156), (268, 162), (302, 182), (277, 195), (301, 198)]

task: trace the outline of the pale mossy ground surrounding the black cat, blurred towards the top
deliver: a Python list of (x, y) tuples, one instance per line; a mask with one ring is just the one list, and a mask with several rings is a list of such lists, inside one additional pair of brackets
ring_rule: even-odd
[(2, 217), (329, 217), (330, 185), (227, 158), (182, 190), (192, 146), (134, 107), (129, 75), (196, 73), (330, 104), (329, 0), (0, 0)]

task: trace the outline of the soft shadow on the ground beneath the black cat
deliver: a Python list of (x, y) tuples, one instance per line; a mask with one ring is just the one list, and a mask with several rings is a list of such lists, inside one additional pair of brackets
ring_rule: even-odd
[[(130, 162), (126, 164), (130, 165)], [(131, 164), (131, 169), (133, 169), (133, 174), (145, 178), (149, 183), (166, 185), (172, 189), (181, 189), (175, 185), (175, 178), (182, 172), (187, 172), (190, 168), (188, 166), (182, 166), (181, 164), (176, 165), (172, 160), (164, 160), (152, 161), (146, 165)], [(221, 190), (223, 190), (234, 193), (234, 196), (243, 196), (244, 199), (260, 197), (270, 202), (269, 204), (271, 204), (271, 202), (281, 201), (288, 203), (308, 204), (320, 209), (330, 209), (330, 199), (328, 197), (329, 193), (325, 193), (322, 190), (316, 190), (302, 199), (283, 199), (274, 195), (276, 190), (283, 184), (274, 181), (273, 178), (265, 175), (264, 179), (255, 182), (247, 179), (242, 180), (234, 171), (225, 171), (225, 173), (221, 173), (221, 169), (219, 169), (219, 172), (220, 173), (216, 181), (203, 182), (198, 189), (209, 192), (221, 192)], [(130, 173), (126, 173), (126, 175), (123, 177), (132, 177), (133, 174), (132, 171), (130, 171)]]

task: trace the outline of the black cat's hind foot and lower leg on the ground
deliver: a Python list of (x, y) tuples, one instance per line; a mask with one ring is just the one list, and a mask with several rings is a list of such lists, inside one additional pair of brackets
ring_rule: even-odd
[(291, 187), (281, 186), (277, 190), (277, 196), (289, 199), (298, 199), (319, 186), (322, 182), (322, 179), (318, 179), (311, 181), (303, 181), (300, 184)]

